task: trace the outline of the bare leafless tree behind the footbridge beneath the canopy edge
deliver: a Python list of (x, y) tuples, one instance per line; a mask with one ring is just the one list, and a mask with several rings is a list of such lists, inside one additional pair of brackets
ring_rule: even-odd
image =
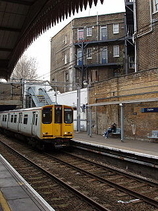
[(15, 66), (11, 78), (35, 80), (38, 77), (36, 71), (36, 59), (33, 57), (28, 58), (26, 55), (23, 55)]

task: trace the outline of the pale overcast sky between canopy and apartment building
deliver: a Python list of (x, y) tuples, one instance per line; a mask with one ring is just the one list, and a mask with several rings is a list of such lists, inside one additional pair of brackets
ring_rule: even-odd
[(124, 0), (104, 0), (104, 4), (98, 3), (91, 9), (84, 10), (73, 17), (57, 24), (41, 35), (32, 45), (25, 51), (28, 57), (34, 57), (37, 61), (37, 74), (40, 80), (49, 80), (50, 75), (50, 39), (58, 31), (60, 31), (66, 24), (76, 17), (101, 15), (115, 12), (124, 12)]

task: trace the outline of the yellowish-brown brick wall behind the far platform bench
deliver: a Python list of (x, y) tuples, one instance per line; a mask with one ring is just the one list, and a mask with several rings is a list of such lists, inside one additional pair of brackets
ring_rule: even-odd
[[(90, 104), (146, 100), (146, 102), (126, 103), (124, 105), (125, 137), (135, 138), (132, 125), (136, 126), (136, 138), (147, 139), (151, 130), (158, 129), (158, 113), (142, 113), (142, 108), (158, 107), (158, 102), (147, 102), (148, 99), (158, 98), (158, 69), (141, 71), (128, 76), (95, 83), (90, 88)], [(102, 134), (104, 128), (112, 123), (120, 127), (119, 105), (93, 107), (93, 120), (96, 124), (94, 132)]]

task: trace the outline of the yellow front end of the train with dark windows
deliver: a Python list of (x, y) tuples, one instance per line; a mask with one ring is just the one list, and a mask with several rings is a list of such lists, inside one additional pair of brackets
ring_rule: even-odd
[(44, 106), (41, 136), (45, 143), (55, 147), (69, 146), (74, 136), (73, 108), (66, 105)]

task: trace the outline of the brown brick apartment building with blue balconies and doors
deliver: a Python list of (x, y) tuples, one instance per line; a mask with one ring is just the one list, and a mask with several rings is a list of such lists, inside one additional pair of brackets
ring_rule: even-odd
[(73, 90), (123, 74), (125, 58), (124, 13), (76, 18), (51, 39), (50, 79)]

